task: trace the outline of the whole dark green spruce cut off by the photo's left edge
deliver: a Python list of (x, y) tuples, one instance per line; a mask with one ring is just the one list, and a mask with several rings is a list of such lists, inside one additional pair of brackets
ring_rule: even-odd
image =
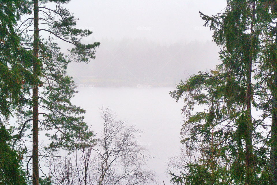
[(0, 3), (0, 184), (26, 184), (22, 153), (11, 148), (11, 130), (5, 124), (16, 107), (30, 103), (23, 98), (27, 91), (21, 84), (33, 78), (28, 70), (32, 54), (20, 45), (15, 29), (20, 15), (28, 13), (30, 10), (20, 0)]

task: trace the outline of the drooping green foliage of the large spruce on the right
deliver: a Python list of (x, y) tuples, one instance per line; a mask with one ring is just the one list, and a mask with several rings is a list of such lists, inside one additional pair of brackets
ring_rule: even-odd
[[(182, 114), (186, 118), (181, 129), (184, 150), (199, 156), (195, 162), (188, 161), (187, 170), (179, 176), (171, 173), (172, 182), (215, 184), (225, 180), (226, 173), (230, 176), (226, 184), (245, 184), (249, 174), (246, 145), (251, 143), (250, 168), (254, 171), (250, 184), (269, 184), (270, 133), (265, 120), (270, 115), (271, 102), (270, 87), (265, 87), (265, 82), (271, 78), (267, 71), (276, 69), (270, 64), (275, 60), (276, 47), (266, 46), (267, 41), (271, 42), (267, 40), (272, 35), (268, 27), (274, 16), (270, 7), (264, 1), (230, 0), (225, 11), (216, 16), (200, 12), (204, 25), (214, 31), (214, 42), (222, 48), (221, 64), (216, 70), (199, 72), (181, 81), (170, 93), (176, 101), (183, 99), (185, 103)], [(249, 77), (249, 63), (255, 66), (250, 71), (258, 81), (255, 86)], [(261, 112), (261, 117), (253, 120), (249, 119), (246, 108), (248, 89), (252, 93), (252, 107)], [(224, 173), (211, 176), (215, 171)]]

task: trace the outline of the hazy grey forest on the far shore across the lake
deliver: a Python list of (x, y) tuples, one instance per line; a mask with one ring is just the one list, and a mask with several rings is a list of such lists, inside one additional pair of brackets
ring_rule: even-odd
[(69, 65), (69, 75), (78, 86), (174, 87), (180, 79), (212, 69), (219, 59), (212, 41), (166, 45), (146, 39), (102, 39), (100, 43), (91, 63)]

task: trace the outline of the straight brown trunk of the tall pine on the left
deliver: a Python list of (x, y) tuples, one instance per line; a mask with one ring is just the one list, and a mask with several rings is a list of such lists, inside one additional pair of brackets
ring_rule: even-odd
[(38, 1), (34, 0), (34, 42), (33, 42), (33, 185), (39, 185), (39, 164), (38, 164), (38, 47), (39, 47), (39, 29), (38, 29)]

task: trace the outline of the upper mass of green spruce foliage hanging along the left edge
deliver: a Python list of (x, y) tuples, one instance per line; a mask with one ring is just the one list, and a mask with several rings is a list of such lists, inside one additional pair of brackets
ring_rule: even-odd
[(1, 1), (0, 3), (0, 113), (8, 118), (17, 106), (28, 104), (22, 97), (24, 83), (30, 83), (29, 71), (32, 53), (20, 46), (20, 37), (14, 29), (20, 14), (28, 14), (29, 9), (22, 1)]

